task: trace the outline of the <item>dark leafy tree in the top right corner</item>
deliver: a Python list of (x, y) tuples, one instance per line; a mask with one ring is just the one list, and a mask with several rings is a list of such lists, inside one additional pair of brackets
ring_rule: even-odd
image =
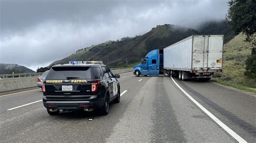
[(256, 0), (230, 0), (228, 6), (226, 18), (231, 19), (233, 30), (237, 34), (244, 32), (246, 41), (255, 42)]

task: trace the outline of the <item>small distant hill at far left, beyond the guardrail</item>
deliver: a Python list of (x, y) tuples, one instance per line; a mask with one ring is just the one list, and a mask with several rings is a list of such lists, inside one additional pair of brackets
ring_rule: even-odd
[(0, 75), (1, 74), (12, 74), (14, 72), (15, 74), (18, 73), (35, 73), (35, 71), (24, 67), (19, 66), (17, 64), (9, 64), (9, 63), (0, 63)]

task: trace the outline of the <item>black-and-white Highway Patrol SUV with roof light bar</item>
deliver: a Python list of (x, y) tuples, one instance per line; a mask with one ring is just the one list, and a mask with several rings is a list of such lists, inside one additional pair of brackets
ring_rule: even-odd
[(102, 61), (72, 61), (52, 66), (43, 83), (43, 104), (49, 115), (59, 111), (99, 109), (109, 113), (109, 103), (120, 102), (120, 75)]

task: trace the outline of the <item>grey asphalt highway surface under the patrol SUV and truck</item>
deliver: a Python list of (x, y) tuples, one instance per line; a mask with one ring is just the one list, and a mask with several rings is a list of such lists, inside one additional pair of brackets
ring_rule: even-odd
[(125, 73), (119, 81), (121, 101), (110, 105), (107, 116), (50, 116), (41, 89), (0, 96), (1, 142), (256, 142), (254, 95), (164, 76)]

